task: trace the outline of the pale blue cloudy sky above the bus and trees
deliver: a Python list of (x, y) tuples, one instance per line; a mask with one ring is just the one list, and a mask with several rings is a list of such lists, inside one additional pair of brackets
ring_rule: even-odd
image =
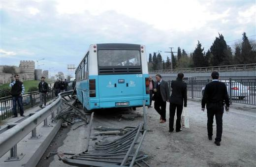
[[(90, 44), (134, 43), (166, 59), (218, 33), (231, 47), (256, 39), (256, 0), (0, 0), (0, 65), (39, 60), (51, 75), (81, 61)], [(37, 68), (37, 63), (35, 63)]]

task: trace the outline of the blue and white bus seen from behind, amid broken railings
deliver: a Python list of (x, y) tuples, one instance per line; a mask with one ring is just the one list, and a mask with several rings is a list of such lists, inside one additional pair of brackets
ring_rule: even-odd
[(76, 69), (78, 100), (87, 110), (149, 105), (145, 46), (93, 44)]

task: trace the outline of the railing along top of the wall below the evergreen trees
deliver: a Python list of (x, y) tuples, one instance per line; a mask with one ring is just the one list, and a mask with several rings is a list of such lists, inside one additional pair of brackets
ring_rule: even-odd
[(256, 71), (256, 63), (254, 64), (236, 64), (236, 65), (223, 65), (223, 66), (212, 66), (212, 67), (196, 67), (196, 68), (176, 68), (168, 70), (155, 70), (149, 71), (150, 74), (163, 74), (163, 73), (203, 73), (203, 72), (228, 72), (228, 71)]

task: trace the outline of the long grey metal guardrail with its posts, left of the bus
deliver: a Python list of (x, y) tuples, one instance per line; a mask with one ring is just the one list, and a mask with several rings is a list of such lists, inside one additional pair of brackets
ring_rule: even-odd
[(72, 91), (59, 93), (54, 102), (41, 109), (38, 112), (31, 112), (22, 121), (9, 124), (6, 128), (0, 129), (0, 157), (10, 150), (10, 157), (17, 159), (17, 143), (32, 132), (32, 138), (36, 138), (36, 127), (44, 121), (47, 125), (47, 118), (55, 111), (59, 112), (63, 108), (62, 96), (70, 95)]

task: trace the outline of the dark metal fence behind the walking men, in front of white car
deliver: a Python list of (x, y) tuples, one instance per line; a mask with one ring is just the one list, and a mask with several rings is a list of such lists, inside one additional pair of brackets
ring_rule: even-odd
[[(231, 103), (256, 105), (256, 79), (220, 80), (226, 84)], [(202, 98), (204, 88), (211, 80), (185, 81), (188, 97)], [(169, 84), (171, 81), (169, 81)]]

